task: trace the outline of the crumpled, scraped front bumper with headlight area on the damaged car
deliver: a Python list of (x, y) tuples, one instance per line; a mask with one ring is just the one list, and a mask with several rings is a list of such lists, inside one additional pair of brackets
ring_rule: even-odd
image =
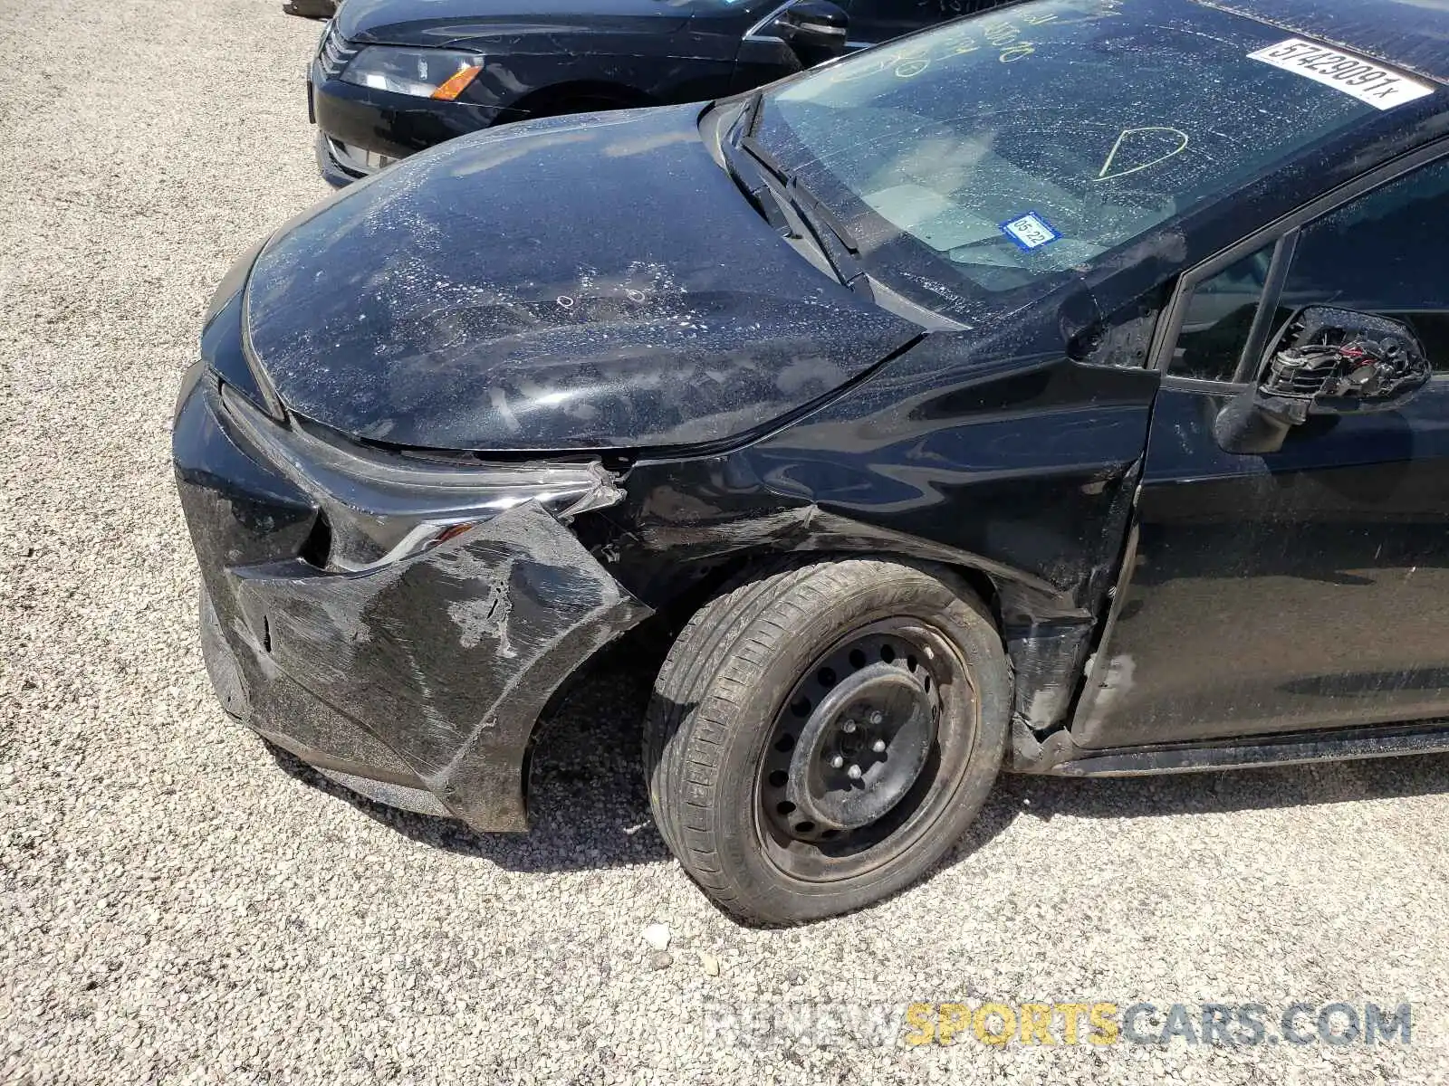
[[(539, 712), (649, 615), (561, 523), (607, 504), (607, 473), (594, 465), (591, 498), (564, 487), (561, 468), (542, 468), (532, 497), (527, 469), (503, 469), (517, 485), (501, 500), (462, 485), (419, 498), (412, 479), (427, 466), (359, 481), (326, 455), (304, 465), (316, 449), (274, 443), (287, 433), (226, 400), (204, 366), (187, 376), (172, 450), (223, 705), (368, 798), (475, 830), (527, 828)], [(355, 487), (339, 495), (319, 484), (329, 478)], [(439, 504), (445, 515), (420, 515)], [(359, 520), (381, 527), (359, 531)]]

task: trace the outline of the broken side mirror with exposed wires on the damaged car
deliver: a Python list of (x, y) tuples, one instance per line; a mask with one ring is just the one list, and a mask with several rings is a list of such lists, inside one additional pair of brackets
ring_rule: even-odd
[(1432, 371), (1403, 321), (1310, 306), (1288, 321), (1261, 372), (1261, 382), (1213, 421), (1224, 452), (1278, 452), (1310, 416), (1395, 411), (1429, 384)]

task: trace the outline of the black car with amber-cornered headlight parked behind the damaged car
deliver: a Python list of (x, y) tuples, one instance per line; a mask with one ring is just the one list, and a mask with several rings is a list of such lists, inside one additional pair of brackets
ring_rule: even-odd
[(307, 77), (335, 185), (465, 132), (707, 101), (1003, 0), (348, 0)]

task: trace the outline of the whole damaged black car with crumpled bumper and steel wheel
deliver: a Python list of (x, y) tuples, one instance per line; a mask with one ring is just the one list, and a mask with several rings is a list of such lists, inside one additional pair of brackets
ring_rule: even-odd
[(656, 821), (762, 922), (1003, 769), (1449, 750), (1446, 35), (1045, 0), (352, 187), (181, 391), (222, 701), (523, 830), (540, 714), (667, 631)]

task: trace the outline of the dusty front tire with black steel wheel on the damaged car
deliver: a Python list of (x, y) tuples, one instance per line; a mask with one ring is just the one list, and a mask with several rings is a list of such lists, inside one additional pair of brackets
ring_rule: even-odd
[(916, 882), (961, 837), (1006, 747), (1010, 672), (948, 571), (791, 565), (706, 604), (645, 723), (655, 821), (746, 922), (796, 924)]

